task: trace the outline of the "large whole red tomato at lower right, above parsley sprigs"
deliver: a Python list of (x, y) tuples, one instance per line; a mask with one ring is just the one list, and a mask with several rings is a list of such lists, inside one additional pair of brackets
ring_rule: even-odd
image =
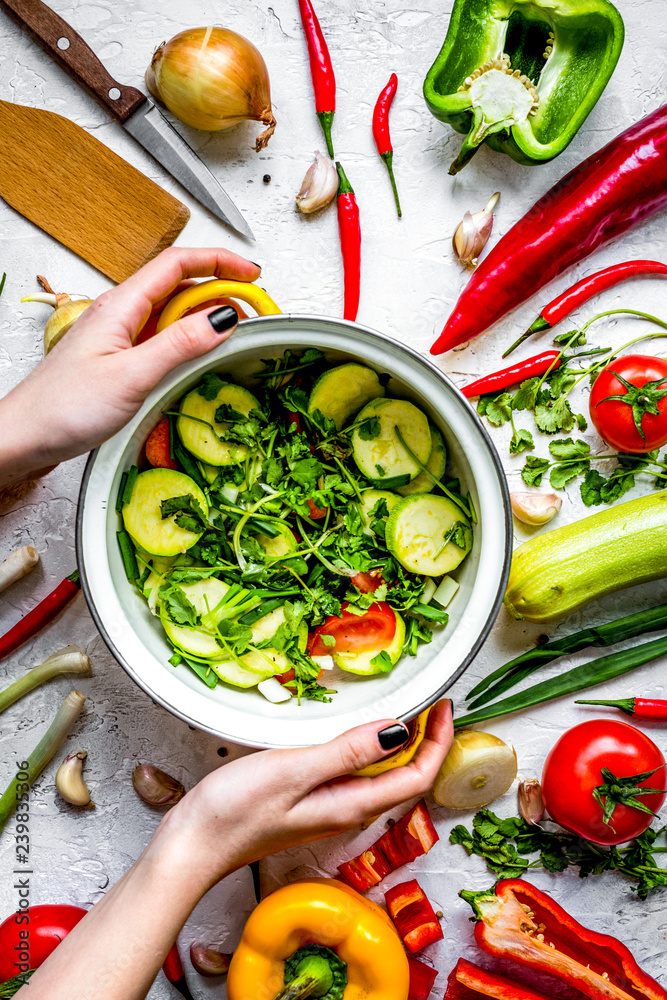
[[(593, 719), (564, 733), (547, 757), (542, 774), (544, 802), (551, 818), (577, 836), (594, 844), (623, 844), (643, 833), (653, 817), (618, 804), (606, 824), (602, 808), (593, 798), (594, 789), (605, 781), (603, 767), (617, 778), (661, 768), (638, 787), (665, 787), (665, 758), (653, 740), (627, 722)], [(652, 812), (658, 812), (665, 795), (659, 792), (640, 799)]]

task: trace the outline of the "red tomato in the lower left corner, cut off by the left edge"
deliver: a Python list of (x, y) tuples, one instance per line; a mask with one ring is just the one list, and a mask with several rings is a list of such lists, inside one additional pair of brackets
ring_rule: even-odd
[(80, 906), (45, 904), (7, 917), (0, 924), (0, 982), (38, 968), (86, 913)]

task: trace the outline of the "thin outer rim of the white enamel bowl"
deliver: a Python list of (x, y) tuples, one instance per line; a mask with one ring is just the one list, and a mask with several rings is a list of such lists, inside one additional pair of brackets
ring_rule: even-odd
[[(477, 414), (476, 414), (474, 408), (472, 407), (471, 403), (469, 402), (469, 400), (466, 399), (466, 397), (462, 395), (462, 393), (460, 392), (460, 390), (454, 385), (454, 383), (452, 382), (452, 380), (449, 378), (448, 375), (446, 375), (443, 371), (441, 371), (440, 368), (438, 368), (438, 366), (436, 364), (434, 364), (434, 362), (431, 361), (431, 359), (429, 357), (426, 357), (425, 355), (421, 354), (419, 351), (415, 350), (415, 348), (413, 348), (413, 347), (410, 347), (408, 344), (404, 344), (404, 343), (402, 343), (402, 341), (397, 340), (396, 337), (392, 337), (392, 336), (390, 336), (387, 333), (382, 333), (381, 331), (375, 330), (373, 327), (366, 326), (363, 323), (357, 323), (356, 321), (353, 322), (351, 320), (339, 319), (338, 317), (335, 317), (335, 316), (317, 315), (317, 314), (314, 314), (314, 313), (295, 313), (295, 312), (275, 313), (275, 314), (270, 314), (270, 315), (266, 315), (266, 316), (252, 316), (252, 317), (250, 317), (247, 320), (243, 320), (242, 322), (243, 322), (244, 329), (247, 330), (250, 327), (259, 327), (259, 326), (262, 326), (267, 321), (285, 322), (286, 324), (289, 324), (289, 323), (291, 323), (293, 321), (307, 322), (307, 323), (308, 322), (311, 322), (311, 323), (322, 323), (322, 322), (326, 323), (326, 322), (330, 322), (330, 323), (335, 323), (338, 326), (347, 326), (351, 330), (362, 330), (364, 333), (370, 334), (371, 337), (375, 337), (375, 338), (377, 338), (380, 341), (385, 341), (387, 343), (392, 344), (394, 347), (397, 347), (399, 350), (403, 351), (404, 353), (411, 355), (411, 357), (414, 358), (416, 361), (418, 361), (420, 364), (422, 364), (426, 368), (430, 369), (430, 371), (433, 374), (435, 374), (435, 376), (437, 378), (439, 378), (442, 382), (444, 382), (448, 386), (448, 388), (452, 389), (455, 393), (458, 393), (461, 396), (461, 399), (463, 400), (463, 402), (465, 403), (465, 405), (469, 409), (471, 409), (473, 411), (473, 413), (475, 413), (475, 417), (477, 417)], [(201, 360), (205, 361), (205, 359), (207, 357), (208, 357), (208, 355), (202, 355)], [(157, 388), (158, 387), (156, 386), (156, 389)], [(155, 390), (152, 390), (152, 391), (154, 392)], [(431, 705), (433, 705), (436, 701), (438, 701), (442, 697), (443, 694), (445, 694), (446, 691), (449, 690), (450, 687), (452, 687), (456, 683), (456, 681), (459, 679), (459, 677), (461, 677), (462, 674), (467, 670), (467, 668), (470, 666), (470, 664), (472, 663), (472, 661), (475, 659), (475, 657), (477, 656), (477, 654), (479, 653), (480, 649), (482, 648), (482, 646), (484, 645), (484, 643), (486, 642), (486, 640), (488, 638), (488, 635), (489, 635), (489, 633), (490, 633), (490, 631), (491, 631), (491, 629), (492, 629), (492, 627), (493, 627), (493, 625), (494, 625), (494, 623), (496, 621), (496, 618), (498, 617), (500, 609), (502, 607), (503, 597), (504, 597), (504, 594), (505, 594), (505, 590), (507, 589), (507, 581), (509, 579), (510, 565), (511, 565), (511, 560), (512, 560), (512, 542), (513, 542), (513, 522), (512, 522), (512, 514), (511, 514), (511, 503), (510, 503), (509, 486), (508, 486), (508, 483), (507, 483), (507, 477), (505, 475), (505, 470), (503, 469), (503, 465), (502, 465), (502, 462), (500, 460), (500, 455), (498, 454), (498, 450), (496, 449), (496, 446), (494, 445), (489, 432), (487, 431), (487, 429), (484, 427), (484, 425), (482, 424), (481, 420), (479, 420), (479, 419), (477, 419), (477, 429), (478, 429), (479, 434), (480, 434), (480, 439), (483, 441), (483, 443), (484, 443), (484, 445), (486, 447), (486, 450), (488, 452), (488, 455), (489, 455), (489, 457), (491, 459), (491, 462), (492, 462), (492, 464), (494, 466), (494, 469), (495, 469), (495, 472), (496, 472), (496, 475), (497, 475), (497, 478), (498, 478), (498, 484), (500, 486), (500, 493), (501, 493), (502, 500), (503, 500), (503, 508), (504, 508), (503, 512), (504, 512), (504, 521), (505, 521), (505, 540), (504, 540), (503, 568), (502, 568), (502, 572), (500, 574), (500, 579), (499, 579), (499, 582), (498, 582), (498, 589), (496, 591), (496, 595), (495, 595), (495, 598), (493, 600), (493, 604), (491, 606), (489, 614), (487, 615), (486, 621), (484, 622), (482, 628), (480, 629), (480, 632), (479, 632), (479, 635), (478, 635), (477, 639), (473, 643), (473, 645), (472, 645), (470, 651), (468, 652), (468, 654), (464, 657), (464, 659), (461, 662), (460, 666), (428, 698), (424, 699), (418, 705), (416, 705), (416, 706), (408, 709), (406, 712), (401, 713), (400, 715), (398, 715), (397, 719), (399, 721), (401, 721), (401, 722), (408, 722), (408, 721), (410, 721), (411, 719), (413, 719), (417, 715), (419, 715), (421, 712), (423, 712), (427, 708), (429, 708)], [(104, 644), (106, 645), (107, 649), (109, 650), (109, 652), (111, 653), (111, 655), (113, 656), (113, 658), (116, 660), (116, 662), (120, 664), (120, 666), (123, 668), (123, 670), (128, 675), (128, 677), (130, 677), (130, 679), (132, 681), (134, 681), (134, 683), (139, 688), (141, 688), (141, 690), (145, 694), (148, 695), (148, 697), (151, 699), (151, 701), (154, 704), (159, 704), (162, 708), (164, 708), (167, 712), (169, 712), (170, 715), (176, 716), (176, 718), (181, 719), (181, 721), (187, 723), (189, 726), (191, 726), (194, 729), (199, 730), (200, 732), (206, 732), (206, 733), (209, 733), (211, 736), (217, 737), (218, 739), (227, 739), (230, 742), (237, 743), (238, 741), (232, 740), (231, 737), (228, 737), (228, 736), (225, 736), (224, 734), (221, 734), (218, 730), (215, 730), (215, 729), (211, 728), (210, 726), (207, 726), (207, 725), (199, 722), (197, 719), (193, 719), (190, 715), (188, 715), (186, 712), (184, 712), (181, 709), (179, 709), (177, 706), (169, 704), (165, 698), (163, 698), (158, 692), (154, 691), (153, 688), (149, 685), (149, 683), (147, 681), (145, 681), (141, 677), (141, 675), (136, 671), (136, 669), (134, 667), (132, 667), (131, 664), (129, 664), (127, 662), (127, 660), (125, 659), (125, 657), (119, 652), (119, 650), (115, 646), (115, 643), (114, 643), (113, 639), (111, 638), (111, 636), (109, 635), (107, 629), (104, 626), (104, 623), (102, 621), (101, 615), (100, 615), (100, 613), (97, 610), (97, 606), (95, 604), (95, 600), (93, 598), (93, 595), (92, 595), (92, 592), (91, 592), (91, 588), (90, 588), (90, 585), (89, 585), (89, 582), (88, 582), (88, 576), (87, 576), (87, 572), (86, 572), (86, 563), (85, 563), (85, 557), (84, 557), (84, 551), (83, 551), (83, 538), (82, 538), (82, 535), (83, 535), (83, 507), (84, 507), (83, 501), (84, 501), (84, 498), (85, 498), (85, 495), (86, 495), (86, 490), (87, 490), (87, 487), (88, 487), (88, 480), (90, 479), (90, 475), (91, 475), (91, 472), (92, 472), (92, 469), (93, 469), (93, 466), (94, 466), (97, 454), (98, 454), (98, 452), (100, 450), (100, 447), (101, 446), (99, 446), (98, 448), (95, 448), (93, 451), (90, 452), (90, 454), (88, 456), (88, 459), (86, 461), (85, 468), (83, 470), (83, 476), (81, 478), (81, 485), (80, 485), (80, 488), (79, 488), (79, 495), (78, 495), (78, 499), (77, 499), (76, 534), (75, 534), (76, 561), (77, 561), (77, 566), (78, 566), (78, 570), (79, 570), (79, 579), (80, 579), (80, 583), (81, 583), (81, 590), (83, 591), (83, 596), (84, 596), (84, 599), (86, 601), (86, 605), (88, 607), (88, 611), (90, 613), (90, 616), (93, 619), (93, 622), (95, 624), (95, 627), (97, 628), (97, 631), (99, 632), (99, 634), (100, 634), (100, 636), (102, 638), (102, 641), (104, 642)], [(263, 743), (258, 743), (256, 741), (252, 741), (252, 742), (248, 742), (248, 743), (242, 743), (242, 744), (238, 744), (238, 745), (241, 745), (241, 746), (251, 746), (251, 747), (259, 747), (259, 748), (262, 748), (262, 749), (264, 749), (264, 748), (270, 748), (270, 747), (273, 746), (273, 744), (271, 744), (271, 743), (269, 743), (269, 744), (263, 744)]]

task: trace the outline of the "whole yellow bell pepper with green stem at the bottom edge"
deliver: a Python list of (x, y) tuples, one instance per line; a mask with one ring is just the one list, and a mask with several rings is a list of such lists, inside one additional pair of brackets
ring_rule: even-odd
[(409, 984), (403, 945), (384, 910), (335, 879), (310, 879), (277, 889), (250, 915), (227, 998), (407, 1000)]

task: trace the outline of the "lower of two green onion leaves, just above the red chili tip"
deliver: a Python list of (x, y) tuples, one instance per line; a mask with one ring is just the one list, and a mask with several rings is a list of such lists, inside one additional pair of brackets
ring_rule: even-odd
[(477, 712), (461, 716), (454, 720), (454, 728), (473, 726), (478, 722), (486, 722), (487, 719), (496, 719), (501, 715), (509, 715), (511, 712), (520, 712), (532, 705), (541, 705), (554, 698), (576, 694), (578, 691), (595, 687), (595, 685), (612, 680), (614, 677), (620, 677), (621, 674), (627, 674), (630, 670), (635, 670), (665, 654), (667, 654), (667, 636), (653, 639), (651, 642), (644, 642), (632, 649), (609, 653), (607, 656), (601, 656), (597, 660), (591, 660), (589, 663), (567, 670), (558, 677), (552, 677), (548, 681), (535, 684), (525, 691), (519, 691), (503, 701), (497, 701)]

